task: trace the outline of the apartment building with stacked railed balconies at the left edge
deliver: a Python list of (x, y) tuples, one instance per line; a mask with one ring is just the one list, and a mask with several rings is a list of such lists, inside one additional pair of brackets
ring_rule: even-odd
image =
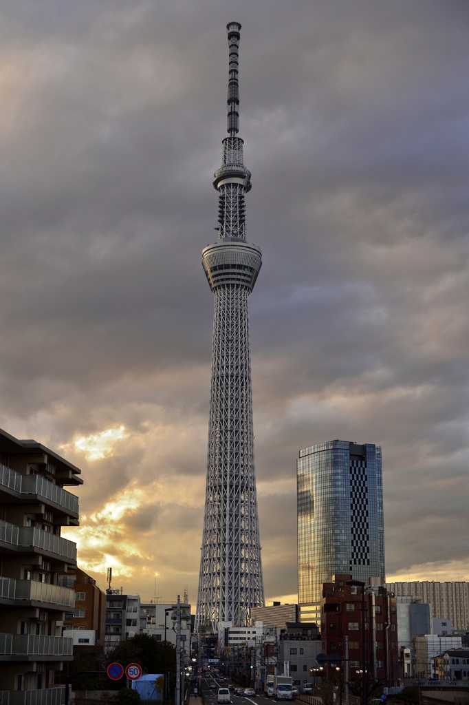
[(61, 635), (75, 590), (62, 577), (76, 565), (77, 548), (61, 527), (79, 523), (80, 470), (37, 441), (0, 429), (0, 702), (61, 705), (56, 686), (73, 659)]

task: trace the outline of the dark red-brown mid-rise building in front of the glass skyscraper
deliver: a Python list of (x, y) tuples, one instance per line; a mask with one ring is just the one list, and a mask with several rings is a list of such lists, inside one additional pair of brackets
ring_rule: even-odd
[(384, 587), (363, 588), (362, 592), (361, 587), (347, 584), (351, 580), (350, 574), (334, 575), (331, 582), (324, 584), (322, 651), (345, 659), (348, 680), (359, 677), (364, 656), (365, 668), (373, 678), (385, 685), (396, 685), (401, 677), (396, 599)]

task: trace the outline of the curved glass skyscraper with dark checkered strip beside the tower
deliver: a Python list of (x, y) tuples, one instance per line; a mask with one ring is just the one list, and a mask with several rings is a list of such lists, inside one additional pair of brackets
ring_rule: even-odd
[(350, 574), (383, 585), (381, 448), (329, 441), (297, 461), (298, 601), (301, 620), (319, 620), (323, 583)]

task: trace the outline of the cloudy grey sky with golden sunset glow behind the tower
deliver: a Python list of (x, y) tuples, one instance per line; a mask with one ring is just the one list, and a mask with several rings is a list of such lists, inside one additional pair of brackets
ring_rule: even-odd
[(382, 445), (388, 580), (469, 580), (467, 0), (0, 20), (0, 426), (82, 468), (82, 568), (196, 601), (237, 20), (266, 600), (296, 599), (296, 458), (332, 439)]

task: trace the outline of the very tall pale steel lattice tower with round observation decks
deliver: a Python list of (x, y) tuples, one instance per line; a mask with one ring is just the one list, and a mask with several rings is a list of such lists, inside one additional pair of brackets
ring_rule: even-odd
[(251, 172), (243, 164), (239, 131), (238, 48), (241, 25), (227, 25), (230, 47), (228, 137), (215, 171), (218, 241), (202, 252), (215, 297), (208, 425), (207, 485), (196, 630), (229, 622), (246, 625), (251, 607), (264, 605), (254, 470), (249, 294), (261, 269), (261, 250), (246, 243), (244, 195)]

